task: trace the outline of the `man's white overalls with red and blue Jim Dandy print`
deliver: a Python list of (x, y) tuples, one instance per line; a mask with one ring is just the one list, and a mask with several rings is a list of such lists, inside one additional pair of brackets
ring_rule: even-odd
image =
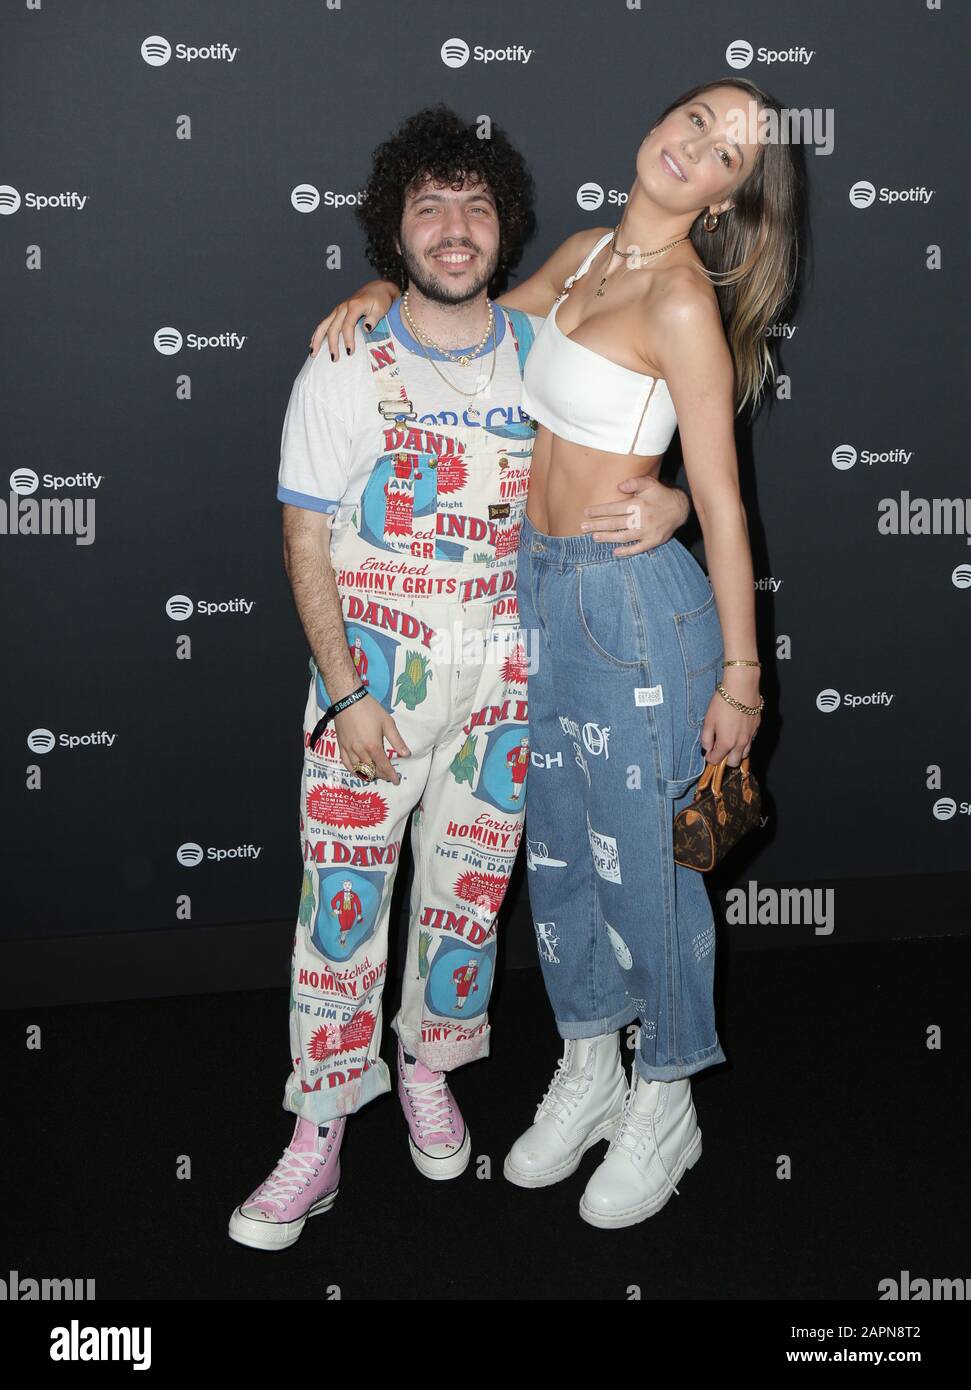
[[(506, 314), (521, 377), (532, 328)], [(496, 915), (520, 845), (529, 760), (515, 598), (529, 420), (518, 393), (510, 411), (493, 409), (496, 398), (457, 392), (449, 399), (458, 413), (418, 420), (399, 360), (407, 353), (388, 320), (365, 341), (375, 464), (360, 503), (335, 518), (331, 559), (360, 678), (411, 756), (392, 755), (399, 785), (365, 784), (343, 767), (333, 721), (310, 746), (331, 703), (311, 659), (283, 1109), (314, 1123), (390, 1090), (379, 1056), (382, 991), (392, 887), (414, 806), (410, 933), (392, 1027), (432, 1070), (488, 1054)], [(482, 361), (488, 370), (490, 357)]]

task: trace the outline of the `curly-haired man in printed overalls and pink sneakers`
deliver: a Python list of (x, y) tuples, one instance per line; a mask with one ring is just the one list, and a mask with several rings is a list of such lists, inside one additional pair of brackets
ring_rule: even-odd
[(392, 1090), (381, 1002), (413, 812), (397, 1094), (420, 1172), (467, 1168), (447, 1074), (489, 1051), (525, 801), (515, 560), (533, 423), (520, 396), (542, 318), (489, 291), (532, 236), (532, 178), (495, 125), (429, 107), (375, 150), (357, 215), (370, 261), (406, 292), (354, 325), (353, 352), (307, 357), (283, 424), (285, 566), (313, 657), (282, 1102), (297, 1119), (229, 1225), (263, 1250), (292, 1245), (333, 1204), (347, 1116)]

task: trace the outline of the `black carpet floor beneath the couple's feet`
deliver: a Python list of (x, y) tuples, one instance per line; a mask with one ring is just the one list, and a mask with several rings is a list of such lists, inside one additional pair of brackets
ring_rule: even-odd
[[(603, 1145), (556, 1187), (501, 1176), (561, 1051), (539, 972), (508, 972), (492, 1056), (453, 1076), (468, 1170), (422, 1177), (381, 1097), (349, 1120), (333, 1209), (276, 1254), (231, 1241), (226, 1222), (293, 1129), (285, 987), (8, 1012), (0, 1273), (94, 1279), (99, 1301), (871, 1301), (904, 1270), (965, 1277), (970, 965), (956, 938), (721, 963), (729, 1062), (693, 1079), (702, 1161), (621, 1232), (576, 1212)], [(385, 1029), (389, 1059), (393, 1041)]]

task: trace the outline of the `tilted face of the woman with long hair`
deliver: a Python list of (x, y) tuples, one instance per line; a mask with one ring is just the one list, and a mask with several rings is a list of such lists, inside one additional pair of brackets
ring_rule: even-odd
[(758, 157), (750, 103), (747, 92), (720, 86), (670, 111), (638, 150), (638, 182), (652, 200), (671, 213), (729, 207)]

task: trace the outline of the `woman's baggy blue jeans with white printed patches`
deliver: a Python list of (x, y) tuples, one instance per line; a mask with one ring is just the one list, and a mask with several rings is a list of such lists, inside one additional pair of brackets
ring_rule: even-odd
[(563, 1038), (638, 1023), (635, 1065), (672, 1081), (725, 1061), (703, 874), (672, 821), (704, 770), (702, 724), (724, 657), (714, 592), (671, 539), (615, 557), (522, 520), (528, 653), (526, 881)]

